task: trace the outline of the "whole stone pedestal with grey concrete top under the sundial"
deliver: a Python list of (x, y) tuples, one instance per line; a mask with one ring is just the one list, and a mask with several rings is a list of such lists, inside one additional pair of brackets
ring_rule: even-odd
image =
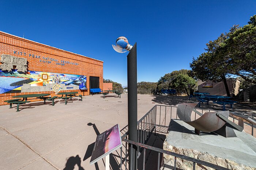
[[(211, 133), (199, 136), (189, 124), (172, 119), (163, 149), (231, 170), (256, 170), (256, 139), (244, 131), (234, 131), (237, 137), (225, 138)], [(163, 154), (161, 170), (173, 168), (174, 157)], [(177, 158), (176, 168), (192, 170), (193, 162)], [(197, 164), (196, 169), (212, 170)]]

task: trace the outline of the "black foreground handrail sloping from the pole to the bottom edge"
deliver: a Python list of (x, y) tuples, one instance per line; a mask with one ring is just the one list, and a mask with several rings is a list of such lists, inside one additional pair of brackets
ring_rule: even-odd
[(171, 152), (171, 151), (159, 149), (159, 148), (154, 147), (154, 146), (145, 145), (143, 143), (134, 142), (134, 141), (131, 141), (131, 140), (128, 140), (128, 139), (123, 139), (123, 141), (127, 142), (127, 143), (131, 143), (132, 145), (137, 145), (137, 146), (144, 147), (146, 149), (154, 150), (154, 151), (157, 151), (159, 153), (163, 153), (163, 154), (167, 154), (167, 155), (172, 155), (174, 157), (181, 158), (181, 159), (186, 159), (188, 161), (195, 162), (195, 163), (200, 164), (200, 165), (205, 165), (207, 167), (211, 167), (211, 168), (214, 168), (214, 169), (229, 170), (229, 169), (227, 169), (225, 167), (222, 167), (222, 166), (219, 166), (219, 165), (215, 165), (213, 163), (205, 162), (205, 161), (202, 161), (202, 160), (199, 160), (199, 159), (196, 159), (196, 158), (191, 158), (191, 157), (188, 157), (188, 156), (185, 156), (185, 155), (181, 155), (181, 154), (177, 154), (177, 153), (174, 153), (174, 152)]

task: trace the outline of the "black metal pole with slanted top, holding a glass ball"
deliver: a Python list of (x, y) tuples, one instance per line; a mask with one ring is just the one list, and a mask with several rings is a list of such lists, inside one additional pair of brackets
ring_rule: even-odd
[[(136, 43), (127, 55), (128, 83), (128, 139), (138, 142), (137, 138), (137, 47)], [(137, 147), (129, 144), (129, 170), (137, 170)]]

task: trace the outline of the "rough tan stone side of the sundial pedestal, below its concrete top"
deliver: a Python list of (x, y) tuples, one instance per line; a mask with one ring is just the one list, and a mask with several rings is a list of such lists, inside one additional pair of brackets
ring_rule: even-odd
[[(200, 159), (202, 161), (210, 162), (215, 165), (219, 165), (219, 166), (231, 169), (231, 170), (256, 170), (256, 168), (254, 168), (254, 167), (245, 166), (240, 163), (231, 161), (229, 159), (215, 157), (208, 153), (202, 153), (200, 151), (193, 150), (193, 149), (177, 148), (175, 146), (170, 145), (166, 141), (163, 143), (163, 150), (167, 150), (167, 151), (171, 151), (171, 152), (174, 152), (177, 154), (186, 155), (188, 157)], [(174, 168), (174, 157), (171, 155), (163, 154), (162, 164), (163, 164), (163, 166), (161, 167), (161, 170), (173, 169)], [(182, 170), (193, 170), (193, 162), (177, 158), (176, 159), (176, 168), (182, 169)], [(203, 169), (214, 170), (210, 167), (196, 164), (196, 170), (203, 170)]]

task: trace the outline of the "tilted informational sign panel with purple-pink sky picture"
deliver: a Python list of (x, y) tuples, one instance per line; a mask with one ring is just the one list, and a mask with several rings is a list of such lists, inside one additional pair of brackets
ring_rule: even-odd
[(122, 146), (119, 125), (116, 124), (109, 130), (98, 135), (94, 144), (93, 154), (91, 155), (90, 164), (97, 162), (106, 155)]

